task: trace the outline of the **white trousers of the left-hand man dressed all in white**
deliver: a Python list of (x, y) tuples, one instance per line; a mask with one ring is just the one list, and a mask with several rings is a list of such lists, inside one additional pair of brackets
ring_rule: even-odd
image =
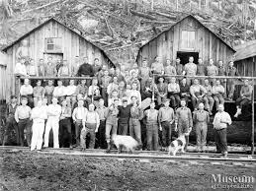
[(43, 144), (44, 122), (33, 122), (31, 151), (42, 149)]

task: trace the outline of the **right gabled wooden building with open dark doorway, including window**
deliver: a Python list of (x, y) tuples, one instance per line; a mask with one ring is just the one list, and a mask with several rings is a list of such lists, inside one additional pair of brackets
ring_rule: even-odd
[(150, 65), (158, 55), (163, 63), (167, 58), (175, 60), (180, 57), (181, 63), (186, 64), (189, 56), (194, 56), (195, 63), (201, 57), (206, 64), (210, 58), (214, 62), (222, 60), (226, 64), (234, 52), (216, 33), (189, 15), (143, 44), (136, 61), (140, 65), (142, 59), (147, 58)]

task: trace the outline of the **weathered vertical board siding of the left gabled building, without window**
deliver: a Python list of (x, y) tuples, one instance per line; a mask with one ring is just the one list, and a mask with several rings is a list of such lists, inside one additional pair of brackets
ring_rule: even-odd
[[(42, 28), (36, 30), (35, 32), (31, 32), (24, 38), (29, 42), (30, 51), (32, 54), (31, 57), (35, 60), (36, 64), (38, 64), (39, 60), (43, 58), (45, 37), (61, 37), (63, 59), (67, 60), (70, 69), (74, 63), (75, 56), (87, 56), (90, 63), (93, 63), (95, 58), (99, 58), (100, 62), (103, 64), (109, 63), (108, 57), (105, 56), (101, 49), (77, 33), (70, 31), (68, 28), (55, 22), (54, 20), (51, 20), (43, 25)], [(8, 55), (8, 96), (15, 93), (14, 68), (15, 64), (18, 62), (16, 59), (16, 53), (17, 49), (21, 46), (21, 41), (15, 43), (6, 50)]]

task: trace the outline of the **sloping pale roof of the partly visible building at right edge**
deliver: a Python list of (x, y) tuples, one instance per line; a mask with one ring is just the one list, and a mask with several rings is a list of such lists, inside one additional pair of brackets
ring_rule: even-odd
[(234, 56), (234, 61), (256, 56), (256, 40), (248, 41), (237, 46)]

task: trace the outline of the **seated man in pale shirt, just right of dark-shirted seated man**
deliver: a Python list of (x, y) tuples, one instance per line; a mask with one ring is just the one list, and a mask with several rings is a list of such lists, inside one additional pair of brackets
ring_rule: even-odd
[(190, 87), (190, 94), (194, 110), (198, 109), (199, 103), (201, 102), (205, 102), (205, 105), (208, 105), (207, 91), (199, 84), (198, 79), (194, 79), (194, 84)]

